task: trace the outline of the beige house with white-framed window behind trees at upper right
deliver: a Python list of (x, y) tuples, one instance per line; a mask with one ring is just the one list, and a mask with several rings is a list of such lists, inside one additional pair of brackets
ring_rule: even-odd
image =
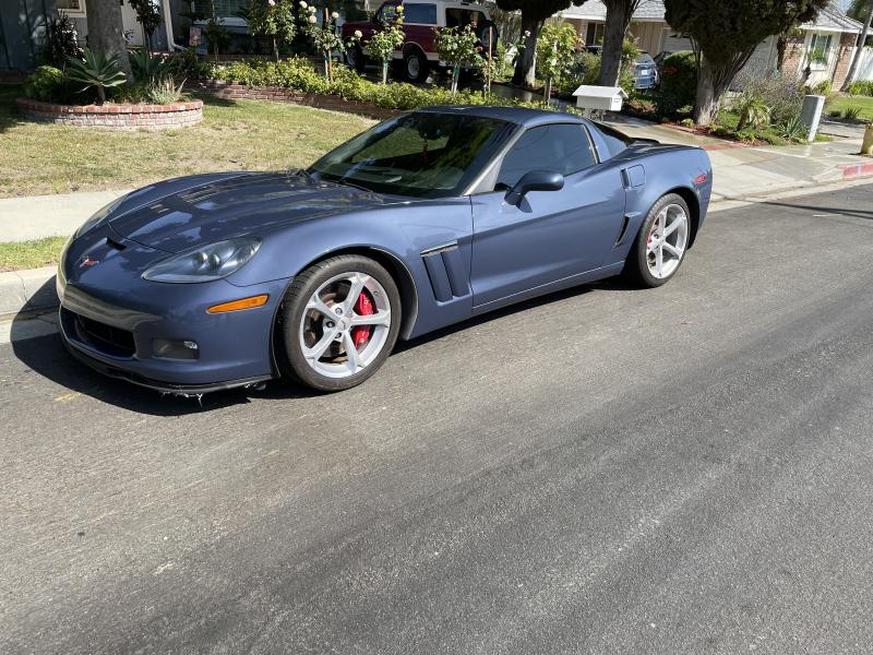
[[(603, 43), (603, 26), (607, 8), (600, 0), (588, 0), (582, 7), (571, 7), (559, 14), (575, 25), (586, 45)], [(642, 50), (650, 55), (690, 50), (689, 38), (672, 29), (665, 21), (662, 0), (641, 0), (634, 12), (629, 32)], [(854, 45), (863, 25), (848, 17), (836, 4), (825, 8), (815, 21), (801, 25), (788, 37), (784, 72), (806, 75), (810, 85), (829, 81), (835, 87), (842, 84), (849, 71)], [(746, 72), (766, 74), (776, 69), (777, 39), (764, 40), (746, 64)], [(870, 50), (870, 48), (868, 48)], [(862, 66), (856, 79), (873, 79), (873, 53), (871, 66)]]

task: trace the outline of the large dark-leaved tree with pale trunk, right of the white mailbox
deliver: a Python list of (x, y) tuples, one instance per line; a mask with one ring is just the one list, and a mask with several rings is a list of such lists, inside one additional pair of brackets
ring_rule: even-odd
[(829, 0), (665, 0), (665, 20), (691, 37), (697, 61), (694, 120), (708, 126), (737, 73), (768, 36), (815, 19)]

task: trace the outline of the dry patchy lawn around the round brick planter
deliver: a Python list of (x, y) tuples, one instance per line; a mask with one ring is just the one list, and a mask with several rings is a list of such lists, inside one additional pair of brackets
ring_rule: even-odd
[(27, 122), (21, 87), (0, 86), (0, 198), (140, 186), (215, 170), (311, 164), (375, 121), (287, 103), (204, 96), (203, 122), (178, 130), (107, 130)]

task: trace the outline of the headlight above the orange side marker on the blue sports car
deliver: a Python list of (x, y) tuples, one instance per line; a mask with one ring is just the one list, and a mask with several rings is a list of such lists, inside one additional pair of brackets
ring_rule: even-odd
[(261, 239), (228, 239), (176, 254), (143, 273), (152, 282), (212, 282), (239, 271), (261, 248)]

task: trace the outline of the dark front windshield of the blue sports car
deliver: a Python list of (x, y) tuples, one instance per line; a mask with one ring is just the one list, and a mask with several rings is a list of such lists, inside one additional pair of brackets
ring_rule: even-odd
[(407, 114), (344, 143), (309, 172), (378, 193), (458, 195), (513, 131), (513, 123), (493, 118)]

